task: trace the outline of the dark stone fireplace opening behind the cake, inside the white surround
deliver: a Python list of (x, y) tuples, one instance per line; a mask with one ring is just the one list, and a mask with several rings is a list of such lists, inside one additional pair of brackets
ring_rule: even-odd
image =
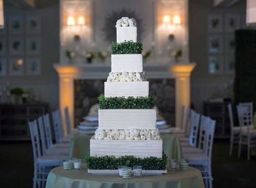
[[(90, 107), (98, 103), (104, 93), (105, 80), (74, 80), (74, 125), (83, 121)], [(175, 79), (148, 79), (149, 93), (155, 95), (155, 104), (167, 124), (175, 126)]]

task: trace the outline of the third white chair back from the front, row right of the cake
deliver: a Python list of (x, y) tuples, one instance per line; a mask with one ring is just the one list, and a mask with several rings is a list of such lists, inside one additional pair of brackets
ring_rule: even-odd
[(190, 118), (190, 136), (189, 142), (192, 146), (196, 147), (197, 139), (198, 139), (198, 128), (199, 128), (199, 121), (200, 121), (200, 114), (195, 113), (195, 111), (191, 111), (191, 118)]

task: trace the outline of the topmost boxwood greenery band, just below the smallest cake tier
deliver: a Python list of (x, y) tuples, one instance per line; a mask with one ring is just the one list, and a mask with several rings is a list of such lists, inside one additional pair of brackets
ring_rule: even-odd
[(124, 41), (112, 42), (112, 54), (141, 54), (143, 45), (141, 42)]

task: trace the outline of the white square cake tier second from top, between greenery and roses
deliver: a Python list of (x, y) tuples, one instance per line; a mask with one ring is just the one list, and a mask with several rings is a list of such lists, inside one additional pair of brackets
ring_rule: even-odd
[(143, 72), (142, 54), (112, 54), (111, 72)]

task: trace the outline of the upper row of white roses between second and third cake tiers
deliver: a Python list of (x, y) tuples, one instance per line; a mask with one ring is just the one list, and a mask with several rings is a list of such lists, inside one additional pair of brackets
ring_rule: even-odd
[(145, 72), (109, 72), (107, 82), (146, 81)]

